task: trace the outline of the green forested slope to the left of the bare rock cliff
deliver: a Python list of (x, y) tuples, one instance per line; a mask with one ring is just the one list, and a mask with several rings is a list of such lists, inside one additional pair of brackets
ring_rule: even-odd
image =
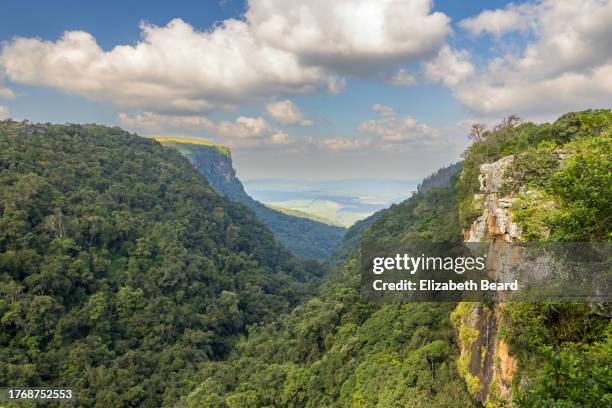
[[(456, 190), (419, 193), (378, 215), (364, 239), (458, 239)], [(446, 225), (446, 226), (445, 226)], [(359, 254), (289, 315), (256, 325), (209, 363), (188, 406), (470, 407), (455, 361), (450, 303), (373, 304), (359, 296)]]

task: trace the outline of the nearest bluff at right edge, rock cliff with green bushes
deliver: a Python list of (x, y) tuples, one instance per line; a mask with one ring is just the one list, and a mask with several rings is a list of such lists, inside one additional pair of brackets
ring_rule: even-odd
[[(541, 125), (509, 118), (493, 129), (475, 130), (459, 183), (466, 236), (485, 241), (610, 242), (610, 110), (568, 113)], [(501, 173), (499, 189), (484, 197), (479, 176), (482, 180), (483, 170), (491, 166)], [(487, 204), (502, 201), (503, 206), (494, 208)], [(508, 222), (516, 225), (511, 234)], [(609, 252), (606, 256), (609, 264)], [(611, 316), (609, 304), (597, 302), (463, 304), (455, 313), (458, 330), (472, 333), (470, 344), (488, 337), (496, 339), (496, 346), (479, 351), (464, 342), (462, 361), (470, 361), (472, 353), (478, 361), (491, 356), (493, 376), (466, 365), (462, 375), (487, 406), (610, 406)], [(478, 330), (487, 319), (493, 330)]]

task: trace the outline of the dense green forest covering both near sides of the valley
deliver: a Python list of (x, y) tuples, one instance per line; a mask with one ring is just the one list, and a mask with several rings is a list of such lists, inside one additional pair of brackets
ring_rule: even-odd
[(512, 396), (483, 400), (460, 358), (474, 304), (363, 302), (359, 243), (461, 241), (480, 165), (509, 155), (523, 240), (609, 242), (611, 131), (609, 110), (476, 127), (461, 165), (350, 228), (321, 281), (174, 149), (0, 122), (0, 383), (85, 406), (610, 406), (609, 305), (481, 304), (517, 361)]

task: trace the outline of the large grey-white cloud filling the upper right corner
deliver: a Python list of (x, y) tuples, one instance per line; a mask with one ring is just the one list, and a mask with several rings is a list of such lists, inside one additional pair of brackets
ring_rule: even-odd
[[(496, 10), (520, 13), (523, 6)], [(609, 106), (612, 100), (612, 2), (609, 0), (549, 0), (530, 4), (532, 39), (518, 53), (492, 59), (487, 67), (453, 91), (480, 115), (519, 112), (557, 115), (568, 110)], [(497, 35), (483, 12), (479, 32)], [(489, 21), (486, 24), (485, 21)], [(476, 23), (464, 23), (474, 29)]]

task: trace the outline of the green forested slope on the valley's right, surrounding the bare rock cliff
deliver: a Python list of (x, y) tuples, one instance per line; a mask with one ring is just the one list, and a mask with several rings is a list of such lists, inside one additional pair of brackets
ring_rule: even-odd
[[(537, 207), (537, 201), (533, 206), (517, 201), (516, 221), (525, 231), (546, 227), (550, 239), (609, 240), (610, 187), (602, 186), (612, 186), (610, 119), (609, 111), (587, 111), (553, 124), (504, 121), (475, 134), (461, 176), (458, 166), (441, 172), (443, 178), (455, 173), (450, 186), (428, 178), (413, 197), (356, 227), (349, 245), (355, 248), (355, 238), (460, 241), (462, 227), (479, 214), (478, 206), (471, 206), (480, 165), (508, 154), (518, 159), (504, 189), (526, 193), (511, 184), (521, 180), (548, 191), (557, 203), (551, 211)], [(546, 152), (559, 148), (567, 159), (563, 167), (547, 159)], [(251, 327), (227, 361), (205, 364), (202, 383), (183, 402), (193, 407), (609, 405), (612, 326), (605, 305), (364, 303), (360, 268), (354, 249), (319, 296), (273, 323)], [(496, 321), (492, 332), (474, 327), (481, 319), (474, 311)], [(505, 348), (483, 347), (471, 355), (472, 345), (487, 344), (475, 342), (485, 335), (503, 340), (495, 344)], [(483, 389), (485, 378), (480, 369), (471, 371), (473, 361), (482, 372), (503, 378), (486, 379), (492, 386)], [(498, 381), (509, 382), (509, 394), (493, 386)]]

